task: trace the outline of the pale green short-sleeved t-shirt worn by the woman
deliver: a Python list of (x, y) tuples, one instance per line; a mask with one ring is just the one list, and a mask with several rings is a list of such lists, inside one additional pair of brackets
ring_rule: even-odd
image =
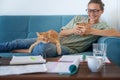
[[(75, 16), (66, 26), (62, 27), (63, 29), (72, 29), (77, 22), (88, 22), (88, 17), (85, 16)], [(99, 22), (92, 26), (96, 29), (110, 29), (111, 27), (108, 26), (105, 22)], [(93, 42), (95, 42), (100, 36), (96, 35), (87, 35), (87, 36), (80, 36), (80, 35), (70, 35), (67, 37), (62, 37), (60, 39), (61, 45), (70, 48), (71, 53), (80, 53), (85, 51), (89, 48)]]

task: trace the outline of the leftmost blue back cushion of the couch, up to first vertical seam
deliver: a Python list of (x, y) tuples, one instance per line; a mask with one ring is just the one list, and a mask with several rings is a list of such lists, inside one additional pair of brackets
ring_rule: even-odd
[(0, 42), (26, 38), (28, 16), (0, 16)]

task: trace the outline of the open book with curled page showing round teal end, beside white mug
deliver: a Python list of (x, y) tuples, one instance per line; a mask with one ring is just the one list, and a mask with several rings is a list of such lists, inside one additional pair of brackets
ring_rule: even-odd
[[(68, 60), (69, 58), (69, 60)], [(62, 56), (58, 62), (47, 62), (48, 73), (75, 74), (78, 71), (80, 58), (72, 56)]]

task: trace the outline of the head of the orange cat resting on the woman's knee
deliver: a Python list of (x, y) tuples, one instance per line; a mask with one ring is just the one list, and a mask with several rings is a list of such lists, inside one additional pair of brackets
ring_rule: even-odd
[(48, 43), (49, 42), (49, 36), (48, 32), (36, 32), (38, 38), (37, 40)]

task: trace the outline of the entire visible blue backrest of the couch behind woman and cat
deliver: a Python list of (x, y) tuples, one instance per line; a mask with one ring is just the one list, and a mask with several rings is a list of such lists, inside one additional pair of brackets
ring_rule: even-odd
[(75, 15), (0, 16), (0, 42), (34, 38), (36, 32), (60, 31)]

